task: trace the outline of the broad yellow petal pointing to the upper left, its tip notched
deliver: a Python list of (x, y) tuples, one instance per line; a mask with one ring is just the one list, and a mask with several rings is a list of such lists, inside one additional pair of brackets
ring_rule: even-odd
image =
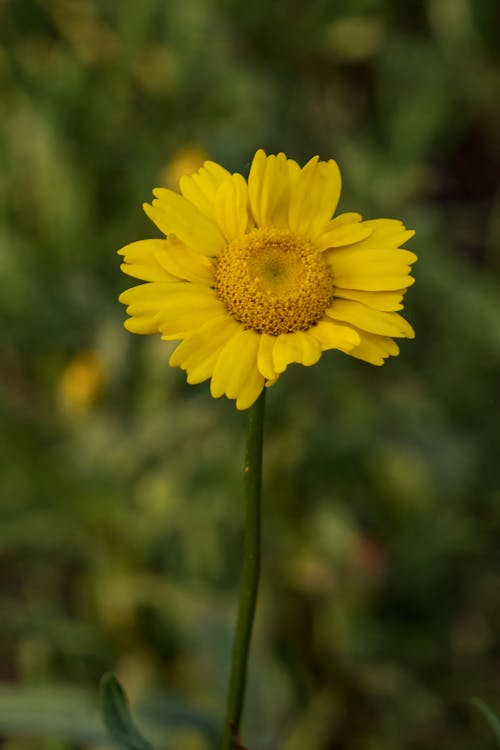
[(153, 190), (153, 205), (144, 204), (149, 218), (167, 236), (177, 237), (203, 255), (217, 255), (225, 241), (216, 224), (186, 198), (167, 188)]

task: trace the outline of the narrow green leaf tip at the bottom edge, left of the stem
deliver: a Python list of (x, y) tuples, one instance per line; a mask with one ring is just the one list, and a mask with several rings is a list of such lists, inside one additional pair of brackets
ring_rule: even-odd
[(104, 724), (120, 748), (153, 750), (132, 721), (127, 696), (114, 674), (105, 674), (101, 680), (101, 710)]

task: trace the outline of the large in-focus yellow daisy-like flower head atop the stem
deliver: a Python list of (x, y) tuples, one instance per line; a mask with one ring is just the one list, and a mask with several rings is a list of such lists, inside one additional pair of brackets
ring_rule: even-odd
[(399, 315), (413, 283), (413, 236), (400, 221), (331, 218), (341, 178), (333, 160), (302, 169), (285, 154), (255, 154), (248, 181), (214, 162), (154, 190), (144, 210), (166, 239), (122, 248), (122, 270), (145, 284), (120, 296), (134, 333), (180, 341), (172, 367), (212, 396), (251, 406), (292, 362), (323, 351), (381, 365), (413, 338)]

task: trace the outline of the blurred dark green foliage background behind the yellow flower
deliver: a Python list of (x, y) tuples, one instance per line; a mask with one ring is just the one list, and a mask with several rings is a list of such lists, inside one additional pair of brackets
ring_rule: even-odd
[(336, 158), (417, 230), (417, 331), (268, 393), (251, 750), (488, 750), (500, 709), (495, 0), (0, 1), (0, 746), (212, 750), (245, 414), (122, 328), (115, 251), (210, 157)]

